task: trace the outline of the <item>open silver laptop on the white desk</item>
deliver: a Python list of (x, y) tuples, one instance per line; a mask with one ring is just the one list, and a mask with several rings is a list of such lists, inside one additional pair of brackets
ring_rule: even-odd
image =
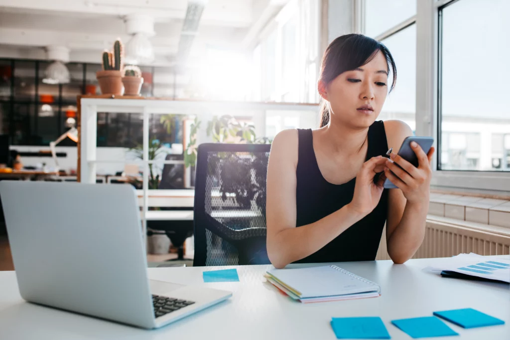
[(232, 296), (147, 279), (135, 190), (129, 185), (0, 182), (23, 299), (158, 328)]

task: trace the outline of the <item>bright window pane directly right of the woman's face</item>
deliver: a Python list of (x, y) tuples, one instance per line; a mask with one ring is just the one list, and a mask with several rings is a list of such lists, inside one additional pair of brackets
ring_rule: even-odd
[[(412, 24), (381, 41), (397, 66), (397, 83), (382, 107), (378, 119), (398, 119), (416, 129), (416, 25)], [(388, 90), (393, 75), (388, 77)]]

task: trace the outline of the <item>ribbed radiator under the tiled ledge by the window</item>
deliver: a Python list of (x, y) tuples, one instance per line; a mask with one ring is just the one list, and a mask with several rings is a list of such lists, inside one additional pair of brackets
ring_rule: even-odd
[[(450, 257), (461, 253), (507, 255), (510, 253), (510, 236), (427, 220), (425, 238), (413, 258)], [(386, 247), (386, 227), (375, 259), (390, 259)]]

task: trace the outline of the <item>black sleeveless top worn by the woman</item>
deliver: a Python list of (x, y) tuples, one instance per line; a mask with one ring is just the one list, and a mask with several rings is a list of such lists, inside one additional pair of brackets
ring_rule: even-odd
[[(352, 200), (356, 178), (334, 185), (322, 176), (313, 148), (312, 130), (298, 129), (298, 163), (296, 169), (296, 227), (314, 223), (339, 210)], [(367, 160), (388, 151), (382, 121), (368, 130)], [(296, 263), (374, 260), (388, 211), (388, 189), (382, 192), (375, 209), (342, 232), (322, 249)]]

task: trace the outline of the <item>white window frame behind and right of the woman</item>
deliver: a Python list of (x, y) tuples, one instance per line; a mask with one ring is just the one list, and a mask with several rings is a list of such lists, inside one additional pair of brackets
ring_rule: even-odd
[[(440, 170), (441, 150), (441, 36), (439, 13), (445, 6), (462, 0), (418, 0), (416, 15), (399, 22), (375, 37), (386, 39), (416, 24), (416, 135), (433, 137), (436, 155), (432, 161), (431, 185), (447, 190), (491, 191), (510, 193), (510, 172)], [(354, 28), (365, 32), (366, 0), (355, 0)]]

